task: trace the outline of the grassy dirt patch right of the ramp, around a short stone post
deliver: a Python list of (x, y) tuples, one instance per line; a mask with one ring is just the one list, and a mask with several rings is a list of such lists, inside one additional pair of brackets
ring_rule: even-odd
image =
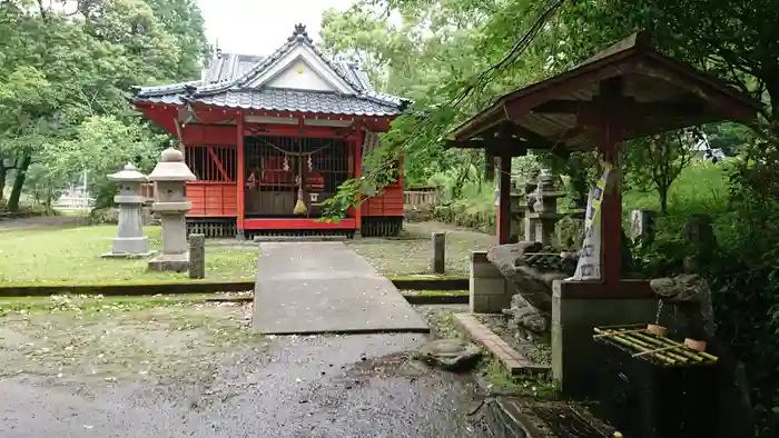
[(440, 222), (404, 223), (395, 239), (366, 238), (347, 245), (387, 276), (431, 273), (431, 235), (446, 231), (446, 273), (467, 275), (471, 251), (486, 250), (495, 237)]

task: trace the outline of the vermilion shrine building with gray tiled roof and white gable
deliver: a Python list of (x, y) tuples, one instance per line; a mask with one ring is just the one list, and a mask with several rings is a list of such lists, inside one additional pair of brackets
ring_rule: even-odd
[[(374, 91), (356, 63), (325, 57), (305, 26), (268, 57), (217, 50), (201, 80), (135, 91), (135, 108), (185, 145), (197, 176), (187, 185), (190, 230), (238, 237), (400, 232), (402, 171), (347, 218), (317, 220), (322, 202), (361, 177), (363, 157), (407, 101)], [(298, 198), (305, 212), (295, 208)]]

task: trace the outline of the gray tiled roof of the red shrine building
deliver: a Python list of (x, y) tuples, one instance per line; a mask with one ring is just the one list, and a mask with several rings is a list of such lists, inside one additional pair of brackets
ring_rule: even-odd
[[(247, 83), (263, 74), (295, 47), (313, 49), (352, 89), (354, 96), (336, 92), (247, 88)], [(333, 115), (394, 116), (400, 115), (407, 101), (373, 90), (364, 71), (355, 63), (327, 59), (313, 43), (304, 26), (296, 26), (287, 42), (268, 57), (221, 53), (204, 71), (199, 81), (136, 88), (136, 102), (183, 104), (199, 102), (209, 106), (324, 112)]]

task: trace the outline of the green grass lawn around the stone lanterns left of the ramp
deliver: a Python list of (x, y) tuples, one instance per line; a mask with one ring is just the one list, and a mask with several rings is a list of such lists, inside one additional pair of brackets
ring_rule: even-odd
[[(147, 272), (148, 259), (103, 259), (111, 249), (116, 226), (37, 229), (0, 232), (0, 283), (112, 282), (186, 279), (187, 272)], [(151, 249), (160, 249), (160, 228), (147, 227)], [(206, 278), (254, 278), (258, 249), (206, 247)]]

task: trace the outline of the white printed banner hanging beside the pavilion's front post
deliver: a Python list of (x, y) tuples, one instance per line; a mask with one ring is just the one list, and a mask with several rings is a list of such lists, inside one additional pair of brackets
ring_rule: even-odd
[(603, 163), (601, 178), (590, 191), (584, 217), (584, 242), (582, 243), (576, 271), (568, 280), (599, 280), (601, 278), (601, 205), (605, 195), (612, 165)]

